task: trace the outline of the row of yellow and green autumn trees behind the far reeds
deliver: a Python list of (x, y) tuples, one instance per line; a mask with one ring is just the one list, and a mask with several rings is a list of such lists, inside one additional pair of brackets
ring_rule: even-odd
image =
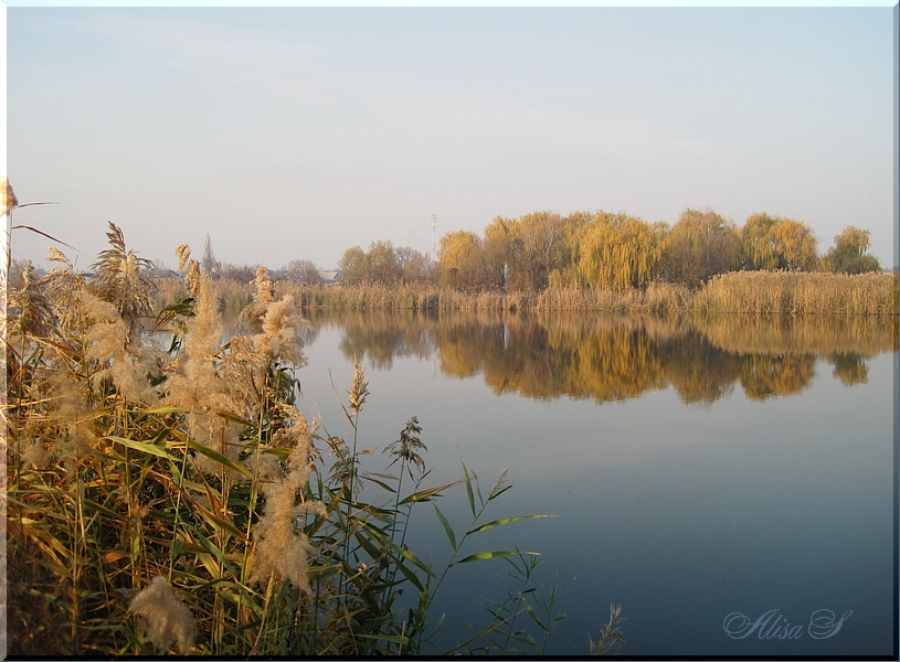
[(483, 236), (445, 234), (437, 273), (443, 285), (475, 291), (625, 290), (654, 280), (699, 287), (717, 274), (738, 270), (881, 270), (868, 248), (869, 232), (848, 226), (819, 256), (808, 225), (766, 213), (738, 227), (710, 210), (685, 210), (673, 226), (626, 213), (534, 212), (498, 216)]

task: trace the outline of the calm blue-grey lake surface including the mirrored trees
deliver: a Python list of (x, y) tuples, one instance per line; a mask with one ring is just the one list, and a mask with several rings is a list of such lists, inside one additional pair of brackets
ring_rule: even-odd
[[(611, 602), (627, 619), (626, 654), (893, 653), (896, 320), (372, 313), (311, 324), (300, 407), (330, 434), (350, 436), (335, 388), (349, 387), (356, 353), (372, 393), (361, 448), (417, 416), (432, 484), (462, 478), (462, 457), (486, 491), (509, 469), (513, 488), (489, 520), (555, 515), (464, 551), (542, 552), (538, 579), (559, 587), (568, 615), (549, 653), (586, 654)], [(441, 508), (460, 536), (465, 489)], [(449, 545), (427, 504), (411, 528), (410, 546), (443, 567)], [(476, 632), (485, 598), (516, 588), (507, 568), (452, 570), (435, 652)], [(839, 629), (809, 628), (830, 612), (846, 616)], [(791, 637), (766, 638), (781, 632)]]

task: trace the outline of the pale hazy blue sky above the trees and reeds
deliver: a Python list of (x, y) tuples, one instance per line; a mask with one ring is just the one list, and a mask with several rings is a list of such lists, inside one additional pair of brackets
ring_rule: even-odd
[[(496, 216), (767, 212), (897, 264), (892, 7), (24, 8), (7, 172), (88, 268), (107, 222), (177, 265), (333, 268)], [(12, 257), (50, 242), (13, 231)], [(60, 246), (57, 246), (60, 247)]]

